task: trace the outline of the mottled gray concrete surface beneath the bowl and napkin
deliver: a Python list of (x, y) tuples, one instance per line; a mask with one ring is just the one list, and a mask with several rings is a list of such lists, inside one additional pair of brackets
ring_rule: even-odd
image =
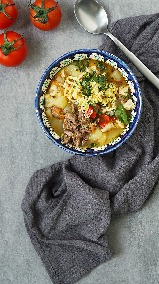
[[(73, 14), (75, 1), (59, 0), (62, 20), (54, 31), (37, 30), (30, 22), (26, 0), (16, 0), (18, 19), (10, 30), (28, 42), (20, 66), (0, 66), (0, 283), (51, 284), (25, 230), (21, 200), (31, 174), (70, 154), (43, 133), (35, 113), (35, 93), (46, 68), (59, 56), (78, 48), (98, 48), (102, 35), (80, 28)], [(157, 12), (158, 0), (104, 1), (109, 21)], [(31, 41), (29, 41), (31, 39)], [(76, 283), (158, 283), (157, 190), (140, 212), (112, 220), (106, 235), (116, 256)]]

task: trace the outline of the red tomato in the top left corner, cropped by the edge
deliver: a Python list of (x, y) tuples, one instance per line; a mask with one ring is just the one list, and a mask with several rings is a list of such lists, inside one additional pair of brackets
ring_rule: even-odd
[[(14, 4), (12, 0), (1, 0), (2, 5), (6, 3)], [(0, 30), (5, 30), (9, 28), (10, 26), (12, 26), (12, 24), (14, 24), (14, 22), (16, 21), (18, 17), (18, 9), (16, 5), (6, 6), (4, 10), (13, 20), (11, 20), (5, 14), (0, 12)]]

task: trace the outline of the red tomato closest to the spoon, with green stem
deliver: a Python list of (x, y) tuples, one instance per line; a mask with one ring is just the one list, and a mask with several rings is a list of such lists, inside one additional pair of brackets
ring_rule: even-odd
[[(34, 2), (34, 5), (37, 7), (41, 7), (42, 0), (36, 0)], [(56, 2), (54, 0), (45, 0), (44, 9), (52, 8), (55, 5), (56, 5)], [(32, 8), (30, 9), (30, 12), (32, 16), (36, 15), (36, 12)], [(57, 28), (57, 26), (60, 24), (60, 21), (61, 21), (61, 9), (58, 4), (55, 10), (49, 11), (47, 13), (48, 22), (46, 24), (40, 23), (38, 21), (34, 21), (35, 19), (31, 16), (31, 14), (30, 14), (30, 19), (33, 25), (39, 30), (43, 30), (43, 31), (50, 31), (50, 30)], [(37, 18), (37, 19), (41, 20), (41, 18)]]

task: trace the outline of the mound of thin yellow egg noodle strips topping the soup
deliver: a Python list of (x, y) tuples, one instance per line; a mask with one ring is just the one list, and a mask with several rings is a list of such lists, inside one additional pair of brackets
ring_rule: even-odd
[[(78, 77), (65, 77), (64, 72), (62, 73), (62, 77), (64, 78), (64, 85), (62, 85), (62, 87), (64, 88), (64, 96), (70, 102), (75, 102), (78, 106), (80, 106), (81, 110), (84, 112), (84, 116), (87, 118), (90, 116), (87, 114), (89, 105), (96, 105), (98, 103), (101, 103), (103, 105), (103, 112), (108, 112), (116, 109), (115, 101), (116, 93), (118, 90), (116, 85), (114, 85), (113, 83), (108, 84), (104, 80), (104, 87), (102, 87), (98, 82), (98, 78), (100, 78), (101, 76), (104, 77), (106, 75), (105, 72), (103, 72), (102, 75), (95, 76), (93, 74), (93, 78), (89, 77), (90, 72), (91, 70), (89, 68), (86, 68), (86, 70), (82, 72), (82, 74), (80, 74)], [(85, 81), (82, 80), (82, 77), (86, 79), (87, 77), (89, 77), (88, 84), (90, 86), (90, 92), (88, 94), (86, 94), (86, 92), (85, 94), (83, 94)]]

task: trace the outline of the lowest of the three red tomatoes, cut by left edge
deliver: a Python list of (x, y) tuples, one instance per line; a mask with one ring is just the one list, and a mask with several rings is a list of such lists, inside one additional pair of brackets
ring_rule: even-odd
[[(21, 37), (21, 35), (19, 35), (16, 32), (6, 32), (6, 38), (9, 42), (18, 39), (19, 37)], [(23, 43), (26, 43), (26, 41), (22, 37), (13, 44), (13, 47), (16, 48)], [(4, 34), (1, 34), (0, 45), (3, 44), (4, 44)], [(2, 49), (0, 48), (0, 64), (7, 67), (18, 66), (25, 60), (25, 58), (27, 57), (27, 53), (28, 53), (27, 44), (22, 45), (16, 50), (10, 51), (8, 55), (4, 55)]]

